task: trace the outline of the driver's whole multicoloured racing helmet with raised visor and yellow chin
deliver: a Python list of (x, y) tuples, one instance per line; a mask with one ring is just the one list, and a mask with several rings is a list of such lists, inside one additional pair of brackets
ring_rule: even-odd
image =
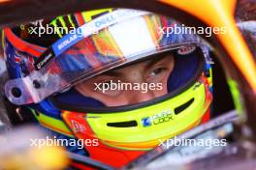
[[(31, 111), (43, 127), (83, 139), (91, 158), (120, 167), (210, 118), (208, 47), (184, 28), (166, 16), (128, 9), (65, 14), (5, 28), (6, 97)], [(175, 66), (164, 96), (107, 106), (74, 88), (166, 53), (174, 56)]]

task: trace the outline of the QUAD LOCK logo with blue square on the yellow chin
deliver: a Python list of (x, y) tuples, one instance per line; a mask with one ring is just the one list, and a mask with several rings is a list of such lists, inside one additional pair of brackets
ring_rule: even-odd
[(144, 127), (150, 127), (152, 125), (159, 125), (167, 123), (174, 120), (174, 114), (172, 110), (166, 110), (161, 113), (155, 114), (151, 117), (146, 117), (142, 119)]

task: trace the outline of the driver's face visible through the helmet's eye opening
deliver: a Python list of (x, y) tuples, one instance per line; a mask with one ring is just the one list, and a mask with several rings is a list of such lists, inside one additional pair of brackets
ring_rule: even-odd
[[(107, 106), (120, 106), (127, 104), (139, 103), (149, 99), (155, 99), (168, 93), (167, 81), (170, 73), (175, 66), (174, 56), (168, 54), (161, 59), (151, 59), (142, 63), (133, 64), (114, 71), (95, 76), (89, 80), (83, 81), (76, 85), (75, 88), (83, 96), (98, 99)], [(146, 89), (146, 92), (138, 89), (116, 89), (116, 90), (99, 90), (95, 88), (96, 84), (101, 83), (147, 83), (158, 84), (161, 88), (157, 90)]]

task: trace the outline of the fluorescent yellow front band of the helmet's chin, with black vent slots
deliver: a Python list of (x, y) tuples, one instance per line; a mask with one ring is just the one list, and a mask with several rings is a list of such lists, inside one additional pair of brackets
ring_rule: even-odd
[[(193, 102), (179, 114), (175, 108), (194, 99)], [(88, 113), (86, 121), (96, 136), (103, 143), (123, 149), (151, 149), (159, 140), (165, 140), (193, 128), (201, 123), (211, 98), (207, 98), (205, 85), (196, 82), (186, 92), (157, 104), (147, 107), (117, 113)], [(169, 113), (169, 119), (163, 113)], [(161, 117), (162, 115), (162, 117)], [(143, 120), (149, 119), (150, 126), (144, 127)], [(164, 120), (164, 121), (163, 121)], [(128, 128), (110, 127), (110, 123), (136, 121), (137, 126)]]

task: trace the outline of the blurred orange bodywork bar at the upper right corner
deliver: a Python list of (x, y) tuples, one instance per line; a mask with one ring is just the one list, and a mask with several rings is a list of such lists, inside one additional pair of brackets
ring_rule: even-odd
[(232, 57), (256, 94), (256, 64), (240, 35), (234, 17), (237, 0), (160, 0), (188, 14), (193, 14), (210, 27), (225, 27), (226, 34), (216, 37)]

